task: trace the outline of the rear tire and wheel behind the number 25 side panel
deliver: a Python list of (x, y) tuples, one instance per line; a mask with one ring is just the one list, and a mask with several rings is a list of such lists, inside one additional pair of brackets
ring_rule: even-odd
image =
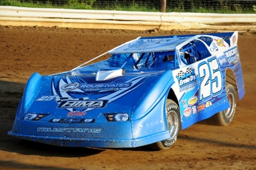
[(237, 94), (235, 93), (234, 87), (229, 83), (226, 85), (226, 93), (230, 108), (214, 114), (212, 118), (214, 119), (214, 125), (216, 126), (227, 126), (234, 118), (235, 108), (237, 106)]

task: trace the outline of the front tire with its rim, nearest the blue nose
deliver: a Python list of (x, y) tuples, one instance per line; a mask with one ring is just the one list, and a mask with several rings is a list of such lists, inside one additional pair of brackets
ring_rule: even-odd
[(149, 147), (155, 150), (165, 150), (170, 148), (176, 142), (179, 135), (181, 123), (179, 106), (171, 99), (167, 99), (165, 112), (171, 138), (150, 144)]

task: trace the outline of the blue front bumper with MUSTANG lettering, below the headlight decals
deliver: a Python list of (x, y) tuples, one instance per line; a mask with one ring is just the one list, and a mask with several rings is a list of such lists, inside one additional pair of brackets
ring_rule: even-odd
[[(105, 125), (105, 126), (104, 126)], [(86, 127), (87, 126), (87, 127)], [(94, 130), (93, 130), (94, 129)], [(95, 130), (96, 129), (96, 130)], [(100, 132), (99, 132), (100, 129)], [(58, 124), (19, 119), (8, 134), (12, 137), (63, 147), (133, 148), (162, 141), (170, 137), (168, 131), (132, 138), (131, 123), (111, 122)]]

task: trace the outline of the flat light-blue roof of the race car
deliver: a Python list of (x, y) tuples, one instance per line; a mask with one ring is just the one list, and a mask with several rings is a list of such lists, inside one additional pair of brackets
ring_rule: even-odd
[(188, 37), (138, 37), (109, 51), (109, 54), (150, 53), (175, 51), (176, 46), (190, 39)]

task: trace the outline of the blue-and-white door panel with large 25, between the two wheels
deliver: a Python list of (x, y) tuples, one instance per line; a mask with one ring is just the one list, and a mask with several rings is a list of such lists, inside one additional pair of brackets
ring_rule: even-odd
[(225, 70), (216, 57), (209, 57), (173, 71), (179, 100), (182, 129), (229, 108)]

